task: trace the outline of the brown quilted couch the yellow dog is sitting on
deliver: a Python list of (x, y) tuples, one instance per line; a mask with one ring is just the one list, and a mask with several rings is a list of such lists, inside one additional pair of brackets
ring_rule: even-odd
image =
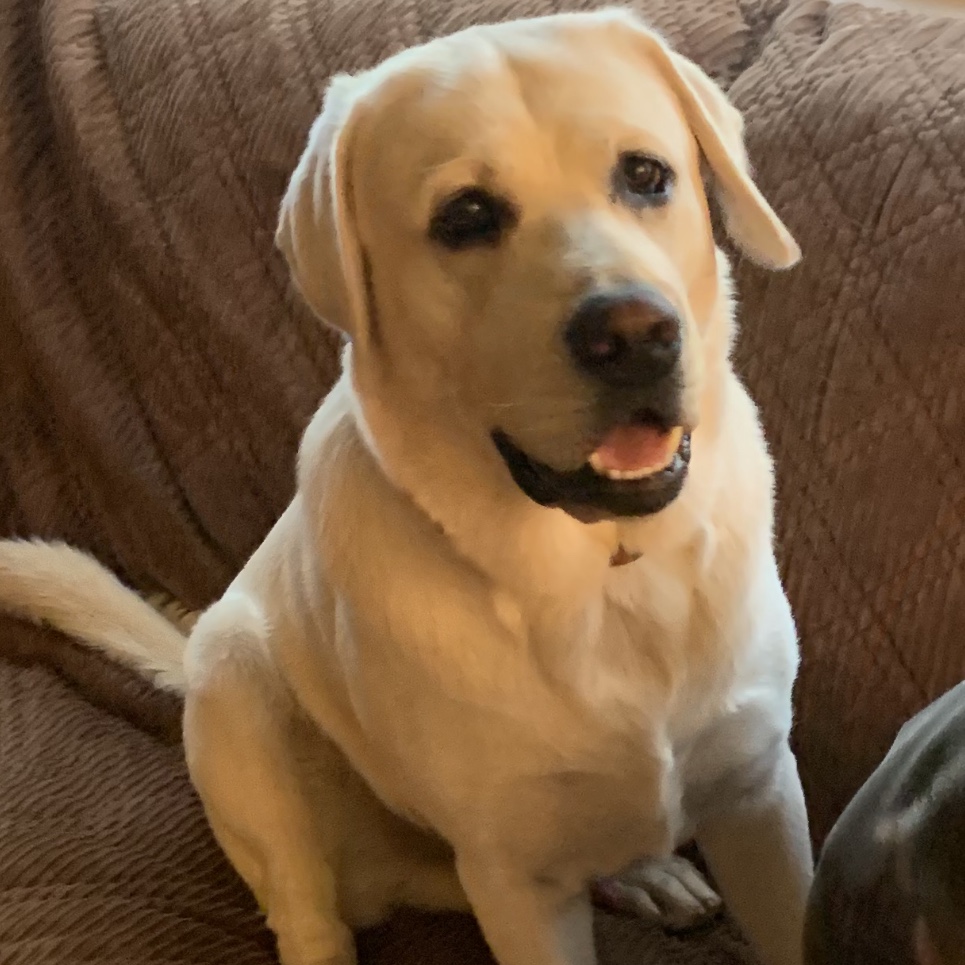
[[(0, 535), (61, 537), (189, 606), (292, 489), (335, 344), (272, 248), (335, 69), (593, 0), (0, 4)], [(965, 677), (965, 23), (822, 0), (639, 0), (746, 112), (806, 258), (738, 267), (739, 362), (779, 467), (816, 841)], [(185, 779), (176, 702), (0, 619), (0, 962), (265, 965)], [(867, 895), (842, 894), (844, 905)], [(875, 919), (871, 919), (875, 920)], [(841, 963), (900, 965), (887, 921)], [(604, 965), (750, 961), (601, 918)], [(405, 916), (363, 963), (486, 962)]]

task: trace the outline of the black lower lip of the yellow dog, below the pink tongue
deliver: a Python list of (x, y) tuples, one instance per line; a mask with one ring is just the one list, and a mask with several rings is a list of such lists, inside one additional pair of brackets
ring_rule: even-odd
[[(683, 489), (690, 466), (690, 434), (666, 469), (645, 479), (607, 479), (583, 465), (559, 470), (527, 455), (501, 429), (492, 433), (514, 482), (534, 503), (586, 519), (598, 516), (651, 516), (669, 506)], [(589, 511), (589, 512), (588, 512)]]

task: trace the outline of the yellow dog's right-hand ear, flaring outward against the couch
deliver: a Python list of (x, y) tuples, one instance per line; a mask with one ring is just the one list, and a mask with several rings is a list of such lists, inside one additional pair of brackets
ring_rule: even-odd
[(717, 185), (727, 232), (754, 261), (789, 268), (801, 257), (790, 231), (751, 178), (744, 122), (724, 92), (693, 61), (671, 50), (629, 12), (617, 13), (680, 100)]

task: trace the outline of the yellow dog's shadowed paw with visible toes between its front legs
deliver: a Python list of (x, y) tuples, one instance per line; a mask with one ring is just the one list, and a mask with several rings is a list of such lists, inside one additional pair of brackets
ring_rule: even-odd
[(593, 897), (601, 908), (658, 921), (670, 931), (702, 925), (722, 907), (703, 875), (677, 855), (641, 861), (619, 878), (600, 878)]

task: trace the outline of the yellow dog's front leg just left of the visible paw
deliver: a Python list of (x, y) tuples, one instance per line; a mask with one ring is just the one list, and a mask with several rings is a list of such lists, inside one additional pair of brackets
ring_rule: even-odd
[(499, 965), (596, 965), (593, 911), (583, 889), (516, 871), (498, 855), (460, 854), (459, 878)]

